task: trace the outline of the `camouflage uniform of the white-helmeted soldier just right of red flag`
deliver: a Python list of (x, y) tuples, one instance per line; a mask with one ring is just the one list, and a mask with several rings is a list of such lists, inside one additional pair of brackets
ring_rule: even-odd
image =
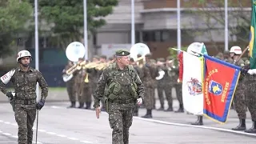
[[(244, 61), (240, 59), (235, 65), (243, 67)], [(239, 118), (239, 125), (237, 127), (232, 128), (232, 130), (246, 130), (246, 98), (245, 98), (245, 83), (242, 80), (243, 75), (240, 74), (240, 78), (238, 80), (238, 86), (234, 93), (234, 109), (236, 110)]]

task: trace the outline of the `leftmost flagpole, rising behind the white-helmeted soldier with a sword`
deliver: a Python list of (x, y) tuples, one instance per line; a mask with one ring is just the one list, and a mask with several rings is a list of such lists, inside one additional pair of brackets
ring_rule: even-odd
[[(39, 50), (38, 50), (38, 0), (34, 0), (34, 41), (35, 41), (35, 69), (39, 70)], [(36, 88), (37, 101), (39, 100), (39, 85)]]

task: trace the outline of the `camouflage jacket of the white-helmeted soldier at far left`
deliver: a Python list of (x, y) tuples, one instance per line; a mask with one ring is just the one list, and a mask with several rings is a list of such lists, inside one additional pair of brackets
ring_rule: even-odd
[(0, 90), (6, 94), (6, 84), (12, 82), (15, 90), (15, 98), (19, 99), (34, 99), (36, 95), (37, 82), (42, 89), (41, 99), (46, 99), (48, 95), (48, 86), (46, 80), (42, 77), (40, 71), (30, 67), (24, 72), (21, 68), (10, 70), (1, 77)]

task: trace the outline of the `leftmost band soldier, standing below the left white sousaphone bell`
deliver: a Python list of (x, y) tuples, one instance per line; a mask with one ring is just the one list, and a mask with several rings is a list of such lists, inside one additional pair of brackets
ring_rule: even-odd
[[(74, 66), (73, 62), (68, 62), (66, 65), (65, 69), (62, 71), (63, 74), (66, 73), (66, 70), (69, 70), (72, 66)], [(75, 74), (73, 74), (73, 78), (71, 78), (68, 82), (66, 82), (66, 91), (67, 94), (69, 95), (71, 105), (68, 106), (68, 108), (73, 108), (75, 107), (75, 86), (74, 86), (74, 79), (75, 79)]]

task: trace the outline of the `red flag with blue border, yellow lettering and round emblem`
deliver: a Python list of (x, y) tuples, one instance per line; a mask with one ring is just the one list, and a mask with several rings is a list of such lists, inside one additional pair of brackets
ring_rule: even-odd
[(241, 68), (207, 55), (204, 58), (203, 113), (206, 117), (223, 123), (230, 110)]

